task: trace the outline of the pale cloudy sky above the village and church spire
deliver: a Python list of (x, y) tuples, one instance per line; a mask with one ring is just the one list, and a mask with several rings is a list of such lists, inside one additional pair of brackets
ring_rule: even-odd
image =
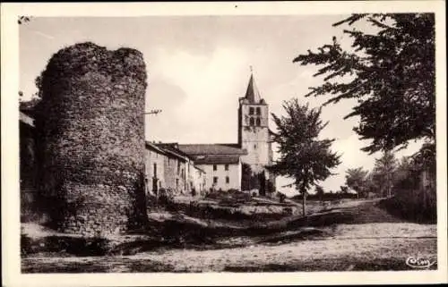
[[(34, 79), (47, 60), (64, 46), (92, 41), (116, 49), (133, 47), (143, 53), (148, 72), (146, 109), (161, 109), (146, 118), (146, 138), (179, 143), (236, 143), (238, 97), (246, 92), (253, 66), (255, 82), (270, 112), (282, 114), (282, 102), (297, 97), (311, 106), (324, 98), (306, 98), (314, 66), (292, 63), (294, 57), (325, 43), (332, 36), (347, 42), (332, 23), (345, 15), (297, 16), (151, 16), (134, 18), (33, 18), (20, 26), (20, 89), (30, 97)], [(366, 142), (352, 131), (358, 119), (343, 120), (353, 102), (323, 108), (329, 121), (324, 138), (336, 139), (341, 165), (323, 182), (339, 190), (345, 170), (371, 169), (378, 155), (359, 148)], [(275, 127), (271, 122), (271, 129)], [(411, 143), (398, 156), (418, 150)], [(289, 183), (279, 179), (278, 187)], [(294, 190), (280, 190), (293, 194)]]

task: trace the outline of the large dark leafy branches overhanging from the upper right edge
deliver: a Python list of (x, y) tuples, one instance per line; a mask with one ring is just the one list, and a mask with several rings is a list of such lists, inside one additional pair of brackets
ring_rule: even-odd
[(353, 40), (345, 49), (332, 43), (298, 55), (294, 63), (322, 66), (322, 85), (309, 96), (330, 97), (324, 105), (356, 99), (345, 118), (359, 116), (354, 131), (372, 139), (362, 150), (406, 148), (409, 140), (435, 140), (434, 13), (353, 14), (333, 26), (364, 21), (376, 31), (343, 30)]

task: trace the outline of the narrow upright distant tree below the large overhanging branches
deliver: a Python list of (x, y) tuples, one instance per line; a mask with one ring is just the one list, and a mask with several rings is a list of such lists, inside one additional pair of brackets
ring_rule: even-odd
[(375, 159), (373, 179), (382, 196), (392, 196), (396, 167), (397, 160), (391, 151), (385, 151), (380, 158)]

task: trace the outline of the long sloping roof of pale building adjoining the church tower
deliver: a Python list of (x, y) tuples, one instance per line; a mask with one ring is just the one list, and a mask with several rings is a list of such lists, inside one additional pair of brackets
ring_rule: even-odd
[(189, 156), (197, 155), (246, 155), (246, 149), (237, 144), (195, 144), (179, 145), (178, 148)]

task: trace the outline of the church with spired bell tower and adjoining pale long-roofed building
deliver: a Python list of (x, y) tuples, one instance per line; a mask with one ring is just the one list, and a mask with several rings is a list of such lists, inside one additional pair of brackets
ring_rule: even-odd
[[(275, 190), (275, 177), (266, 169), (272, 163), (269, 106), (251, 74), (245, 97), (239, 97), (237, 143), (179, 144), (206, 173), (206, 190)], [(246, 174), (250, 167), (251, 174)], [(246, 181), (246, 182), (245, 182)]]

